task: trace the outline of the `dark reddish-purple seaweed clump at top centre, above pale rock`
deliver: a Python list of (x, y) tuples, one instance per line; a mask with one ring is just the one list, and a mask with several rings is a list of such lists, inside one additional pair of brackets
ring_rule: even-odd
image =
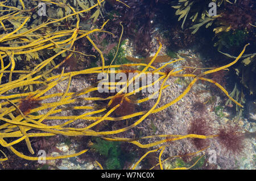
[(161, 2), (158, 0), (131, 0), (126, 1), (126, 5), (117, 1), (108, 1), (106, 11), (109, 19), (115, 19), (113, 26), (110, 27), (111, 32), (117, 31), (119, 22), (127, 27), (123, 31), (123, 39), (129, 38), (133, 40), (135, 53), (139, 56), (147, 57), (150, 55), (150, 42), (152, 40), (153, 23), (152, 19), (160, 8), (157, 7)]

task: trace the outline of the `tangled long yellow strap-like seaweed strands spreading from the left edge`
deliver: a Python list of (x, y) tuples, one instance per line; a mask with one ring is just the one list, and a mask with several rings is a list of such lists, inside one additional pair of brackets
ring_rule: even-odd
[[(22, 0), (20, 0), (22, 2)], [(50, 1), (47, 1), (50, 2)], [(23, 153), (20, 153), (18, 150), (16, 150), (13, 146), (18, 144), (21, 141), (25, 141), (28, 150), (30, 151), (31, 154), (34, 154), (34, 150), (31, 146), (30, 138), (32, 137), (49, 137), (49, 136), (56, 136), (56, 135), (64, 135), (64, 136), (93, 136), (93, 137), (101, 137), (104, 138), (105, 140), (108, 141), (125, 141), (129, 142), (130, 144), (137, 145), (139, 148), (151, 148), (153, 146), (159, 146), (158, 149), (150, 150), (146, 154), (143, 155), (141, 159), (139, 159), (132, 167), (131, 169), (135, 169), (136, 166), (139, 164), (139, 162), (142, 161), (144, 157), (147, 156), (147, 154), (155, 151), (160, 151), (159, 154), (159, 166), (160, 169), (163, 169), (162, 163), (165, 162), (161, 161), (161, 156), (166, 148), (167, 145), (163, 145), (164, 143), (170, 142), (170, 141), (175, 141), (175, 140), (182, 140), (185, 138), (200, 138), (200, 139), (209, 139), (213, 137), (217, 137), (218, 135), (210, 135), (210, 136), (204, 136), (204, 135), (199, 135), (199, 134), (187, 134), (187, 135), (154, 135), (154, 136), (146, 136), (146, 137), (141, 137), (141, 138), (122, 138), (122, 137), (115, 137), (114, 134), (117, 133), (122, 133), (129, 131), (131, 128), (136, 127), (138, 124), (142, 123), (143, 120), (146, 119), (146, 117), (152, 113), (156, 113), (159, 111), (162, 111), (170, 106), (172, 104), (175, 104), (178, 102), (181, 98), (183, 98), (189, 90), (191, 90), (191, 87), (198, 81), (198, 80), (203, 80), (207, 81), (210, 83), (213, 83), (216, 85), (218, 88), (220, 88), (226, 96), (228, 96), (229, 99), (231, 99), (234, 103), (236, 103), (238, 106), (242, 105), (236, 100), (234, 100), (232, 97), (229, 96), (228, 92), (222, 87), (220, 84), (217, 82), (212, 81), (211, 79), (204, 78), (204, 75), (214, 73), (216, 71), (220, 71), (222, 69), (229, 68), (230, 66), (236, 64), (236, 62), (240, 59), (242, 54), (245, 52), (245, 48), (248, 45), (245, 45), (243, 48), (242, 52), (238, 55), (236, 60), (231, 62), (228, 65), (221, 66), (220, 68), (215, 68), (212, 70), (207, 70), (204, 71), (203, 73), (199, 75), (195, 74), (182, 74), (182, 72), (187, 69), (187, 68), (181, 68), (179, 69), (173, 69), (169, 71), (168, 73), (164, 72), (164, 68), (169, 65), (173, 64), (176, 61), (180, 60), (174, 60), (172, 62), (169, 62), (167, 64), (164, 64), (160, 68), (155, 68), (152, 66), (152, 63), (155, 61), (156, 57), (158, 56), (158, 53), (160, 52), (160, 49), (162, 48), (162, 44), (159, 42), (159, 48), (158, 51), (156, 52), (155, 56), (151, 59), (148, 64), (123, 64), (123, 65), (112, 65), (110, 64), (109, 66), (105, 66), (105, 61), (104, 61), (104, 56), (102, 55), (102, 52), (100, 49), (97, 48), (97, 46), (93, 43), (93, 41), (90, 39), (89, 35), (92, 34), (93, 32), (97, 31), (102, 31), (104, 28), (105, 24), (108, 22), (106, 21), (104, 24), (102, 24), (102, 27), (100, 29), (94, 29), (91, 31), (80, 31), (79, 30), (79, 14), (81, 12), (86, 12), (90, 11), (96, 6), (99, 6), (100, 3), (103, 1), (98, 1), (98, 4), (95, 6), (90, 7), (89, 9), (82, 10), (79, 12), (76, 12), (74, 9), (73, 14), (67, 15), (61, 19), (57, 20), (52, 20), (47, 23), (43, 23), (39, 25), (38, 27), (32, 28), (31, 30), (17, 33), (18, 30), (21, 30), (24, 24), (27, 22), (29, 18), (25, 18), (24, 23), (16, 30), (7, 33), (5, 35), (2, 35), (0, 37), (0, 43), (7, 41), (7, 40), (17, 40), (20, 37), (26, 37), (30, 36), (31, 32), (34, 32), (36, 30), (39, 30), (40, 28), (44, 28), (48, 24), (59, 22), (61, 20), (64, 20), (68, 17), (71, 16), (76, 16), (77, 17), (77, 23), (76, 23), (76, 28), (73, 30), (65, 30), (65, 31), (60, 31), (60, 32), (54, 32), (54, 33), (49, 33), (48, 35), (44, 35), (42, 37), (39, 37), (39, 39), (36, 39), (32, 42), (25, 42), (26, 45), (19, 46), (19, 47), (1, 47), (0, 51), (0, 60), (1, 60), (1, 76), (2, 78), (3, 73), (9, 74), (9, 82), (3, 83), (0, 85), (0, 120), (1, 120), (1, 125), (0, 125), (0, 145), (5, 148), (9, 148), (10, 151), (12, 151), (14, 154), (18, 155), (18, 157), (31, 160), (31, 161), (38, 161), (38, 157), (31, 157), (24, 155)], [(53, 3), (53, 2), (52, 2)], [(3, 3), (1, 3), (1, 6), (3, 6)], [(12, 9), (15, 9), (17, 12), (16, 15), (20, 14), (23, 10), (18, 10), (15, 7), (10, 7)], [(23, 7), (24, 9), (24, 7)], [(14, 15), (6, 15), (8, 16), (14, 16)], [(1, 17), (3, 18), (3, 17)], [(22, 17), (19, 17), (22, 18)], [(65, 37), (65, 40), (59, 41), (59, 37)], [(80, 71), (71, 71), (68, 73), (64, 73), (64, 69), (59, 75), (49, 75), (49, 77), (45, 77), (45, 75), (50, 74), (53, 70), (59, 68), (60, 65), (62, 65), (65, 60), (67, 60), (69, 57), (72, 56), (74, 53), (73, 48), (73, 43), (80, 39), (81, 37), (86, 37), (90, 43), (94, 46), (94, 48), (100, 53), (101, 55), (101, 60), (102, 60), (102, 66), (98, 66), (96, 68), (90, 68), (90, 69), (85, 69), (85, 70), (80, 70)], [(120, 38), (121, 39), (121, 38)], [(14, 70), (15, 68), (15, 61), (14, 61), (14, 56), (17, 54), (25, 54), (28, 52), (36, 52), (38, 50), (42, 49), (52, 49), (56, 47), (64, 47), (64, 45), (69, 48), (63, 48), (60, 52), (56, 53), (54, 56), (49, 57), (47, 60), (44, 60), (41, 62), (39, 65), (35, 66), (35, 68), (32, 71), (25, 71), (25, 70)], [(40, 70), (42, 70), (49, 62), (54, 60), (57, 56), (60, 56), (61, 53), (63, 52), (69, 52), (69, 55), (67, 58), (65, 58), (60, 64), (55, 65), (52, 69), (44, 71), (44, 73), (36, 75)], [(70, 53), (71, 52), (71, 53)], [(3, 58), (9, 57), (10, 64), (7, 66), (4, 66), (3, 64)], [(113, 59), (114, 61), (114, 59)], [(113, 62), (112, 61), (112, 62)], [(160, 89), (153, 94), (149, 95), (146, 98), (136, 100), (135, 103), (142, 103), (142, 102), (147, 102), (152, 98), (152, 96), (155, 96), (156, 94), (158, 95), (156, 102), (154, 106), (150, 108), (150, 110), (147, 111), (140, 111), (140, 112), (135, 112), (131, 113), (130, 115), (125, 115), (121, 117), (111, 117), (110, 114), (117, 110), (117, 108), (120, 106), (121, 103), (116, 104), (110, 110), (108, 110), (108, 107), (101, 107), (97, 108), (94, 104), (95, 101), (97, 100), (109, 100), (108, 105), (111, 105), (113, 102), (114, 96), (108, 96), (107, 98), (99, 98), (99, 97), (90, 97), (90, 96), (83, 96), (83, 95), (89, 95), (90, 92), (97, 91), (98, 87), (96, 85), (92, 85), (90, 87), (87, 87), (86, 89), (82, 89), (77, 92), (69, 92), (69, 87), (71, 85), (72, 78), (75, 77), (76, 75), (82, 75), (82, 74), (98, 74), (98, 73), (109, 73), (110, 68), (115, 68), (112, 70), (112, 73), (117, 74), (119, 72), (122, 72), (121, 69), (123, 66), (127, 67), (133, 67), (133, 66), (142, 66), (143, 70), (139, 71), (137, 75), (135, 75), (132, 79), (127, 80), (127, 82), (121, 82), (122, 84), (126, 84), (127, 86), (131, 86), (133, 81), (139, 79), (141, 76), (147, 76), (148, 73), (150, 74), (159, 74), (160, 77), (154, 82), (146, 85), (146, 86), (141, 86), (136, 90), (133, 90), (131, 92), (125, 92), (125, 87), (123, 87), (121, 90), (119, 90), (115, 96), (123, 94), (123, 98), (128, 98), (130, 95), (133, 95), (135, 92), (141, 91), (143, 89), (147, 89), (147, 87), (150, 87), (154, 85), (155, 83), (160, 83)], [(7, 68), (10, 68), (10, 70), (6, 70)], [(119, 70), (118, 70), (119, 69)], [(163, 70), (163, 71), (161, 71)], [(13, 80), (12, 79), (12, 74), (14, 73), (23, 73), (25, 74), (23, 77), (19, 77), (18, 79)], [(165, 104), (164, 106), (158, 107), (158, 104), (161, 99), (162, 91), (168, 87), (168, 85), (165, 85), (167, 79), (171, 76), (174, 77), (192, 77), (193, 80), (187, 88), (179, 95), (177, 98), (172, 100), (171, 102)], [(44, 77), (44, 79), (43, 79)], [(49, 95), (44, 95), (48, 90), (51, 90), (53, 87), (55, 87), (58, 83), (63, 82), (65, 80), (68, 80), (67, 87), (64, 92), (57, 92), (54, 94), (49, 94)], [(107, 83), (107, 87), (109, 90), (113, 89), (113, 85), (117, 86), (118, 83), (120, 82), (110, 82)], [(39, 85), (39, 89), (35, 91), (28, 91), (28, 92), (23, 92), (23, 93), (12, 93), (7, 94), (7, 92), (12, 92), (14, 89), (19, 88), (24, 85)], [(80, 96), (80, 98), (79, 98)], [(81, 98), (81, 96), (83, 96)], [(56, 102), (51, 102), (51, 103), (41, 103), (42, 100), (47, 100), (51, 98), (56, 98)], [(24, 100), (29, 102), (29, 100), (33, 100), (32, 106), (30, 106), (30, 110), (26, 110), (24, 108), (20, 109), (20, 103), (22, 103)], [(38, 102), (36, 102), (38, 100)], [(70, 107), (69, 104), (71, 103), (77, 103), (78, 100), (83, 100), (84, 102), (88, 102), (86, 106), (80, 106), (77, 104), (76, 106)], [(40, 101), (40, 103), (39, 103)], [(59, 108), (59, 106), (67, 106), (65, 108)], [(64, 111), (67, 111), (68, 109), (75, 109), (75, 110), (86, 110), (86, 113), (82, 113), (81, 115), (78, 116), (55, 116), (56, 113), (61, 113)], [(38, 112), (41, 110), (47, 110), (47, 113), (45, 114), (39, 114), (39, 115), (32, 115), (31, 112)], [(29, 111), (27, 113), (27, 111)], [(103, 113), (103, 115), (102, 115)], [(123, 121), (130, 119), (132, 117), (137, 117), (137, 120), (130, 125), (127, 125), (124, 128), (120, 129), (115, 129), (115, 130), (108, 130), (106, 128), (106, 131), (94, 131), (93, 127), (96, 125), (102, 123), (103, 121), (105, 122), (111, 122), (111, 121)], [(52, 123), (55, 123), (55, 120), (65, 120), (64, 123), (57, 124), (57, 125), (47, 125), (44, 123), (44, 120), (50, 120)], [(71, 124), (74, 123), (75, 121), (88, 121), (88, 125), (86, 125), (84, 128), (75, 128), (72, 127)], [(36, 132), (33, 132), (36, 131)], [(6, 138), (13, 138), (14, 141), (7, 142)], [(159, 141), (155, 142), (150, 142), (148, 144), (141, 144), (139, 140), (143, 139), (150, 139), (150, 138), (159, 138)], [(8, 139), (7, 139), (8, 140)], [(204, 148), (206, 149), (206, 148)], [(202, 149), (202, 150), (204, 150)], [(194, 155), (199, 153), (200, 151), (197, 151), (196, 153), (190, 153), (189, 155)], [(81, 155), (88, 151), (88, 149), (82, 150), (78, 153), (75, 154), (69, 154), (69, 155), (60, 155), (57, 157), (46, 157), (46, 160), (50, 159), (61, 159), (61, 158), (68, 158), (68, 157), (76, 157), (77, 155)], [(6, 157), (5, 153), (1, 151), (1, 153), (5, 156), (5, 158), (0, 158), (0, 161), (6, 161), (8, 158)], [(177, 157), (177, 156), (173, 156)], [(202, 156), (203, 157), (203, 156)], [(199, 161), (199, 159), (197, 160)], [(100, 163), (96, 162), (97, 165), (102, 169), (102, 166)], [(195, 163), (196, 164), (196, 163)], [(195, 165), (194, 164), (194, 165)], [(193, 165), (192, 165), (193, 166)], [(191, 166), (191, 167), (192, 167)], [(191, 168), (189, 167), (189, 168)], [(181, 167), (177, 169), (189, 169), (186, 167)]]

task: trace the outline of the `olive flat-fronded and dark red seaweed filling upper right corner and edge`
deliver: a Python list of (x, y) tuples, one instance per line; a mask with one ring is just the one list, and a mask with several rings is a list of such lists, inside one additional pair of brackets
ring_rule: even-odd
[[(217, 5), (216, 15), (209, 15), (210, 7), (208, 5), (210, 2)], [(248, 42), (255, 47), (255, 1), (176, 0), (170, 4), (176, 10), (175, 15), (178, 16), (177, 20), (181, 22), (183, 31), (192, 30), (192, 34), (200, 34), (202, 32), (199, 30), (207, 29), (214, 32), (211, 35), (214, 42), (213, 46), (217, 47), (217, 50), (226, 57), (234, 58), (233, 54), (240, 50), (241, 45)], [(250, 79), (256, 75), (255, 49), (250, 48), (249, 52), (234, 67), (237, 80), (246, 88), (239, 90), (240, 95), (255, 95), (255, 83)]]

